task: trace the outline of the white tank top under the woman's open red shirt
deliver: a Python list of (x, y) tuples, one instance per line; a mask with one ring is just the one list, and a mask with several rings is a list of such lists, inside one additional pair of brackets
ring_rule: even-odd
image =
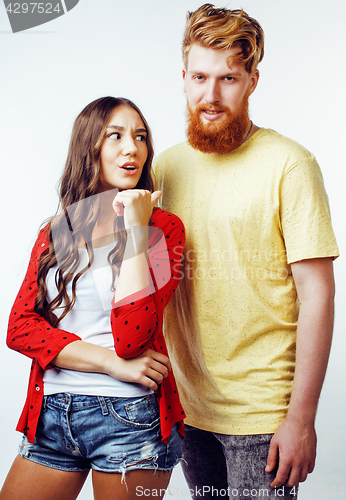
[[(112, 350), (114, 350), (114, 339), (110, 312), (114, 292), (111, 290), (112, 270), (107, 262), (107, 256), (113, 247), (114, 243), (94, 248), (95, 260), (91, 268), (77, 282), (76, 303), (58, 325), (62, 330), (75, 333), (85, 342)], [(88, 263), (87, 250), (79, 249), (79, 252), (81, 261), (77, 272)], [(51, 268), (47, 275), (49, 300), (56, 297), (58, 293), (55, 284), (56, 270), (57, 266)], [(71, 282), (67, 286), (67, 293), (71, 298)], [(59, 316), (58, 311), (54, 311), (57, 316)], [(138, 397), (153, 392), (142, 384), (122, 382), (102, 373), (86, 373), (60, 368), (45, 371), (43, 383), (46, 395), (68, 392), (90, 396)]]

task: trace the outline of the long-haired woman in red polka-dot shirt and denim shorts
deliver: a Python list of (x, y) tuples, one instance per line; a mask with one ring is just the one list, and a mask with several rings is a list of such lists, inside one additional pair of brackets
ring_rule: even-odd
[(153, 208), (152, 158), (131, 101), (101, 98), (77, 117), (60, 210), (10, 314), (7, 344), (33, 362), (1, 500), (75, 499), (90, 469), (96, 500), (158, 498), (181, 459), (185, 415), (161, 324), (185, 235)]

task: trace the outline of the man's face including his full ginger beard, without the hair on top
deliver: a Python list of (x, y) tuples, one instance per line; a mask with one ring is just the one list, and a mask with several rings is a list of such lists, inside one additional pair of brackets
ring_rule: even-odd
[(239, 48), (206, 49), (193, 45), (183, 71), (187, 93), (187, 140), (199, 151), (224, 154), (238, 148), (250, 130), (249, 95), (259, 73), (232, 59)]

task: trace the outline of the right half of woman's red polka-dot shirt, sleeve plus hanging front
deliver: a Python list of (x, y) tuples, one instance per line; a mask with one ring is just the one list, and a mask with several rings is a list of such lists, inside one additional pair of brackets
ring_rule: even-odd
[[(118, 356), (131, 358), (151, 348), (167, 356), (162, 333), (164, 308), (180, 281), (185, 230), (181, 220), (173, 214), (155, 209), (149, 237), (149, 264), (152, 287), (127, 298), (127, 304), (113, 303), (111, 325)], [(144, 296), (143, 296), (144, 295)], [(178, 422), (183, 434), (181, 407), (172, 371), (156, 393), (161, 417), (162, 440), (167, 442), (172, 425)]]

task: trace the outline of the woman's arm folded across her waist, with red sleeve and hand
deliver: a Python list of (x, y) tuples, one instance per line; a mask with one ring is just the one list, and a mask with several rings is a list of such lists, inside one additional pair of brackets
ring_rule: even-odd
[(47, 228), (44, 228), (35, 242), (26, 275), (10, 313), (8, 347), (35, 359), (43, 370), (58, 366), (108, 373), (119, 380), (142, 383), (155, 389), (156, 383), (160, 383), (170, 370), (167, 356), (147, 350), (140, 359), (126, 362), (110, 349), (83, 342), (71, 332), (53, 328), (35, 312), (38, 264), (47, 247), (48, 234)]

